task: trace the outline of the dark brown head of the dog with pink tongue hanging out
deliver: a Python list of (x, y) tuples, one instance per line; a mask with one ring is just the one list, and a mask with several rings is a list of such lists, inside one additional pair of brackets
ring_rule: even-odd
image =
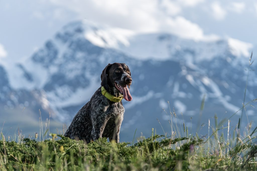
[(111, 94), (115, 96), (123, 94), (125, 100), (132, 100), (128, 90), (132, 83), (132, 78), (130, 69), (126, 64), (108, 64), (102, 72), (101, 81), (101, 86), (103, 86)]

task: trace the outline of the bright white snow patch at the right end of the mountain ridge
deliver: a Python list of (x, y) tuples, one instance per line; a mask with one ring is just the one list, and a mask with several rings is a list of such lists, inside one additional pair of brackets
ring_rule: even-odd
[(249, 57), (249, 50), (253, 48), (251, 43), (246, 43), (234, 38), (228, 38), (228, 45), (231, 48), (231, 53), (235, 56)]

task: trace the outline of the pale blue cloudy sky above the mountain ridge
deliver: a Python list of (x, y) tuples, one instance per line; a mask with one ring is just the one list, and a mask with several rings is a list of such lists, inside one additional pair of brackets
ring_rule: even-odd
[(0, 0), (0, 63), (30, 57), (62, 26), (88, 20), (134, 33), (257, 46), (257, 0)]

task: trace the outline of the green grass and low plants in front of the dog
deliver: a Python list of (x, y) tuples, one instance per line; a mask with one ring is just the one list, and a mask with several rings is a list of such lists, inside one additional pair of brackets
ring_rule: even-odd
[[(251, 64), (250, 58), (248, 71)], [(44, 127), (40, 117), (40, 132), (35, 136), (25, 138), (19, 129), (18, 135), (11, 138), (1, 132), (0, 170), (257, 170), (257, 127), (253, 128), (250, 122), (240, 134), (245, 106), (257, 102), (256, 98), (245, 103), (246, 88), (247, 84), (239, 122), (233, 125), (229, 119), (240, 110), (220, 123), (215, 115), (214, 124), (208, 120), (208, 134), (202, 137), (198, 135), (203, 127), (200, 121), (193, 134), (192, 129), (185, 126), (183, 114), (177, 115), (169, 108), (169, 112), (164, 111), (170, 117), (171, 135), (164, 130), (164, 135), (156, 135), (152, 129), (149, 138), (141, 136), (135, 144), (135, 134), (132, 143), (99, 138), (85, 144), (64, 137), (66, 126), (61, 134), (51, 134), (49, 114)], [(205, 95), (200, 116), (204, 101)]]

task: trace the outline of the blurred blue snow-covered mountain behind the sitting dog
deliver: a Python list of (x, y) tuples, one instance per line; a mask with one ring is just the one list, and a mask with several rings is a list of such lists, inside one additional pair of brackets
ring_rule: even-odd
[[(131, 140), (136, 128), (137, 135), (149, 135), (152, 127), (162, 133), (156, 118), (170, 133), (170, 116), (162, 109), (169, 114), (167, 101), (177, 115), (183, 113), (189, 127), (193, 117), (192, 127), (196, 128), (215, 113), (220, 120), (242, 107), (249, 48), (249, 44), (234, 39), (195, 42), (166, 33), (134, 34), (120, 28), (74, 22), (64, 26), (26, 61), (11, 69), (6, 67), (7, 71), (0, 67), (0, 100), (9, 111), (10, 103), (15, 106), (15, 100), (8, 96), (13, 91), (19, 97), (16, 106), (30, 108), (34, 101), (30, 110), (35, 110), (37, 118), (41, 108), (45, 113), (51, 112), (56, 121), (69, 125), (100, 87), (104, 67), (120, 62), (130, 67), (133, 78), (133, 100), (123, 102), (126, 112), (121, 140)], [(246, 102), (257, 97), (256, 85), (257, 77), (252, 71)], [(199, 119), (204, 95), (205, 107)], [(256, 109), (247, 106), (246, 112), (249, 120), (256, 119)], [(238, 117), (231, 120), (236, 124)]]

